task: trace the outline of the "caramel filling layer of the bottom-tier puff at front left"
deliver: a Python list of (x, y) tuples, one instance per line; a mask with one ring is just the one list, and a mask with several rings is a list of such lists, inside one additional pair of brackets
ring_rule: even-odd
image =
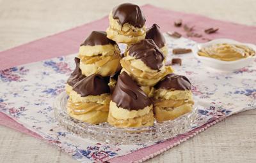
[(82, 115), (90, 111), (109, 111), (109, 105), (97, 103), (72, 103), (70, 99), (68, 99), (67, 108), (70, 108), (74, 115)]

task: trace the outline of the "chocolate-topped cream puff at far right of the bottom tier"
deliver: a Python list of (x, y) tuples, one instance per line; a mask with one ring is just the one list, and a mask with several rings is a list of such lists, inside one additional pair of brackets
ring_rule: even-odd
[(185, 76), (168, 74), (155, 89), (154, 116), (157, 122), (173, 120), (193, 110), (191, 83)]

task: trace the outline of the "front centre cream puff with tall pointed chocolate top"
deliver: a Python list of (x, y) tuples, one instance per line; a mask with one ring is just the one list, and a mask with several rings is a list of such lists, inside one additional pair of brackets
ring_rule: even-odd
[(154, 125), (152, 101), (125, 72), (118, 76), (109, 104), (108, 123), (115, 127)]

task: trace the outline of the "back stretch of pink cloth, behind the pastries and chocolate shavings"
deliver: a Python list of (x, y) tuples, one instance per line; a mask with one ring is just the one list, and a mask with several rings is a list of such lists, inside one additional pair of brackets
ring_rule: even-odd
[[(231, 38), (237, 41), (256, 43), (256, 28), (248, 25), (234, 24), (213, 20), (211, 18), (180, 13), (177, 11), (163, 10), (151, 5), (142, 6), (142, 10), (147, 17), (147, 26), (156, 23), (161, 27), (161, 31), (177, 31), (185, 36), (181, 27), (174, 27), (173, 21), (182, 18), (184, 24), (195, 25), (195, 32), (204, 34), (204, 29), (218, 27), (220, 30), (214, 34), (204, 34), (205, 38)], [(104, 17), (90, 24), (81, 25), (68, 31), (63, 31), (46, 38), (38, 39), (24, 45), (17, 46), (10, 50), (0, 52), (0, 69), (36, 62), (61, 55), (78, 52), (79, 45), (84, 38), (95, 30), (106, 30), (108, 18)], [(205, 41), (202, 38), (192, 38), (195, 41)]]

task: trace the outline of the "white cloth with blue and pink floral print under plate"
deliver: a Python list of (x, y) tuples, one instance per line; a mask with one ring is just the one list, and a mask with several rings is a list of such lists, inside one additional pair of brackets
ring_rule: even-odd
[[(196, 45), (195, 41), (185, 38), (166, 36), (166, 41), (170, 52), (172, 48)], [(124, 46), (120, 48), (124, 49)], [(52, 103), (64, 90), (65, 81), (75, 66), (75, 56), (0, 71), (0, 111), (81, 162), (103, 162), (154, 145), (108, 145), (80, 138), (57, 125)], [(170, 55), (168, 60), (172, 57), (182, 58), (182, 66), (173, 68), (175, 73), (184, 74), (191, 80), (193, 94), (198, 101), (198, 118), (191, 129), (256, 107), (256, 60), (252, 66), (224, 73), (203, 67), (192, 54)]]

